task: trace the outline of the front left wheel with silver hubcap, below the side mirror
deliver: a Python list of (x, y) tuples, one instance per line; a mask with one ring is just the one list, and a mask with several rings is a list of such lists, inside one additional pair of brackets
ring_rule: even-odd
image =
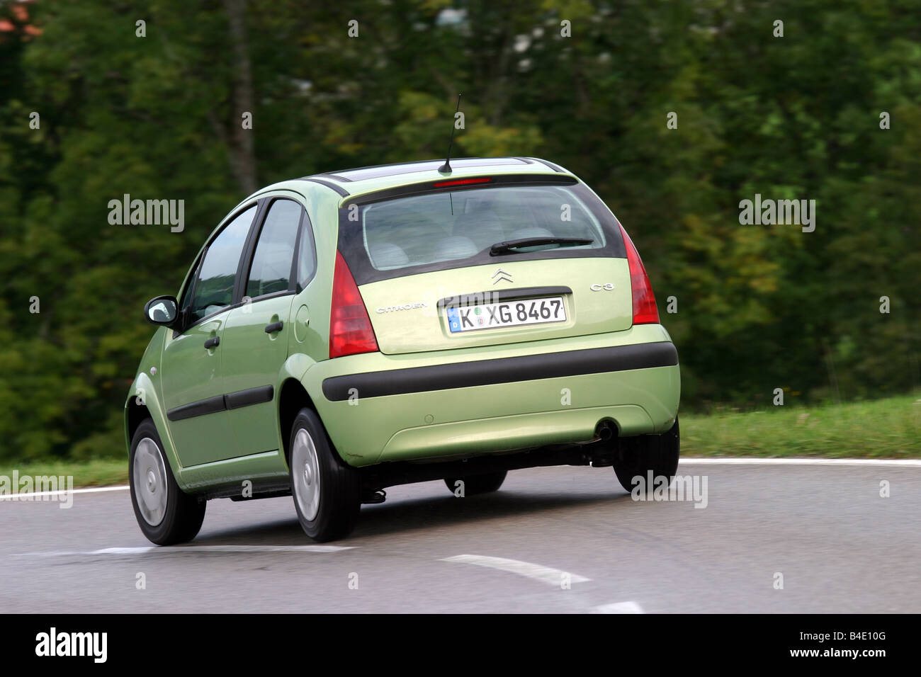
[(192, 541), (202, 528), (206, 501), (186, 494), (176, 484), (150, 418), (134, 431), (128, 469), (134, 517), (147, 540), (157, 545)]

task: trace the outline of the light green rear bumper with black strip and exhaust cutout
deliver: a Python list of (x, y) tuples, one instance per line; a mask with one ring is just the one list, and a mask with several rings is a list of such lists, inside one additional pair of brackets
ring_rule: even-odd
[(344, 460), (435, 460), (668, 429), (678, 354), (660, 325), (625, 332), (386, 356), (340, 357), (305, 385)]

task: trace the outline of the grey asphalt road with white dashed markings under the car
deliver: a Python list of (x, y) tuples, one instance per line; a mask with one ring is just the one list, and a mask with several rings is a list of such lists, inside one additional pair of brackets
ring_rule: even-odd
[(517, 471), (467, 498), (440, 482), (391, 487), (329, 550), (304, 547), (290, 497), (212, 501), (198, 538), (172, 548), (141, 535), (127, 491), (70, 509), (0, 501), (0, 609), (921, 612), (921, 467), (682, 461), (679, 473), (706, 477), (705, 508), (636, 502), (610, 468)]

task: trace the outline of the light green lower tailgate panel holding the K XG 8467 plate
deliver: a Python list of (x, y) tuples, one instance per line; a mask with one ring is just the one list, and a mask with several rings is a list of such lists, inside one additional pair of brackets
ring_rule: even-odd
[(359, 286), (385, 354), (628, 329), (626, 259), (506, 261)]

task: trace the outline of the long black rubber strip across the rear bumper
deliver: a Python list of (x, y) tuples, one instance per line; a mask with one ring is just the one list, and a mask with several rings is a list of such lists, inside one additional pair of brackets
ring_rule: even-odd
[(322, 388), (327, 400), (342, 402), (353, 388), (361, 399), (677, 364), (674, 344), (662, 341), (334, 376), (324, 379)]

